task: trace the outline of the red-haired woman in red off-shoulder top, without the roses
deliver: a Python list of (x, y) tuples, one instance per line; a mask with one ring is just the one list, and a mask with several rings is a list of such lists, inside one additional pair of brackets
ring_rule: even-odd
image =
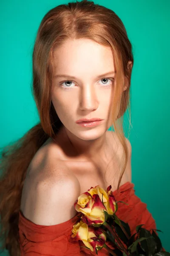
[[(11, 256), (95, 255), (70, 236), (74, 202), (96, 185), (111, 185), (117, 201), (128, 203), (117, 215), (132, 234), (138, 224), (156, 228), (134, 194), (122, 128), (132, 67), (125, 26), (112, 10), (83, 0), (43, 17), (33, 52), (40, 123), (4, 149), (1, 163), (1, 232)], [(98, 255), (108, 253), (102, 248)]]

